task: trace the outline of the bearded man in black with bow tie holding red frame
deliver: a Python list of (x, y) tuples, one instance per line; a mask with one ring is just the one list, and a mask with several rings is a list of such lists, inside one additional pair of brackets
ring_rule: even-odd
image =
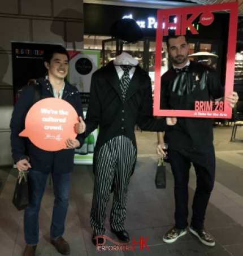
[[(185, 36), (169, 36), (167, 51), (173, 67), (161, 77), (160, 109), (194, 110), (195, 101), (210, 101), (224, 96), (214, 70), (188, 59), (189, 44)], [(237, 103), (236, 92), (226, 97), (229, 106)], [(221, 99), (222, 100), (222, 99)], [(204, 219), (215, 180), (215, 151), (212, 133), (212, 119), (177, 118), (175, 126), (165, 134), (168, 156), (175, 179), (175, 227), (164, 236), (164, 242), (175, 242), (186, 234), (188, 226), (188, 182), (193, 163), (197, 188), (193, 199), (193, 215), (189, 231), (208, 246), (214, 246), (212, 236), (204, 228)], [(163, 133), (158, 133), (157, 151), (162, 149)]]

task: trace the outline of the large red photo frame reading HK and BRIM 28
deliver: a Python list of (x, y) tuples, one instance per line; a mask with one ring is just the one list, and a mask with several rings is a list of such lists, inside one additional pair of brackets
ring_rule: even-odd
[[(177, 116), (177, 117), (195, 117), (195, 118), (231, 118), (232, 109), (227, 101), (195, 101), (194, 106), (190, 110), (167, 110), (160, 109), (160, 89), (163, 84), (160, 84), (161, 63), (162, 63), (162, 44), (163, 37), (167, 37), (173, 29), (176, 36), (185, 35), (189, 31), (190, 38), (193, 35), (200, 33), (194, 27), (195, 20), (199, 19), (200, 26), (208, 26), (215, 19), (216, 12), (226, 12), (229, 15), (229, 31), (227, 53), (226, 73), (224, 95), (233, 91), (234, 71), (235, 71), (235, 51), (236, 51), (236, 36), (237, 36), (237, 17), (238, 3), (223, 3), (219, 5), (194, 6), (186, 8), (173, 8), (158, 10), (157, 16), (157, 36), (156, 36), (156, 53), (155, 53), (155, 88), (154, 88), (154, 115), (155, 116)], [(219, 24), (220, 25), (220, 24)], [(188, 35), (188, 34), (187, 34)], [(204, 38), (207, 39), (207, 38)], [(163, 49), (164, 50), (164, 49)], [(195, 74), (196, 77), (197, 74)]]

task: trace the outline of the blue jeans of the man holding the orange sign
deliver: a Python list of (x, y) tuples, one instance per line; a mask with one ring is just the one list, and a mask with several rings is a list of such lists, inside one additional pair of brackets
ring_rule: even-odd
[[(49, 173), (40, 171), (28, 172), (29, 206), (24, 211), (24, 236), (27, 245), (37, 245), (39, 239), (39, 212), (41, 199), (45, 192)], [(55, 195), (53, 218), (51, 220), (50, 237), (57, 239), (64, 233), (70, 189), (70, 173), (53, 173), (53, 189)]]

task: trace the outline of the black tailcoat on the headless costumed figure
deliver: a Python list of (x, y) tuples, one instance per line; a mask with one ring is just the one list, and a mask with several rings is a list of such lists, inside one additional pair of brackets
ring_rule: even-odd
[(118, 73), (111, 61), (93, 73), (85, 136), (99, 125), (96, 150), (107, 141), (124, 134), (136, 147), (134, 125), (144, 131), (165, 131), (165, 119), (153, 118), (153, 98), (149, 75), (136, 66), (125, 101)]

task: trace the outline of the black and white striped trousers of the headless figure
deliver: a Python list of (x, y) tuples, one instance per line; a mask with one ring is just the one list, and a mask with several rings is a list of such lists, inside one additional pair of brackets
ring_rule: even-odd
[(105, 234), (106, 204), (114, 183), (110, 224), (114, 231), (122, 231), (127, 207), (127, 190), (136, 160), (132, 141), (118, 136), (106, 142), (97, 152), (94, 194), (90, 214), (91, 227), (96, 235)]

